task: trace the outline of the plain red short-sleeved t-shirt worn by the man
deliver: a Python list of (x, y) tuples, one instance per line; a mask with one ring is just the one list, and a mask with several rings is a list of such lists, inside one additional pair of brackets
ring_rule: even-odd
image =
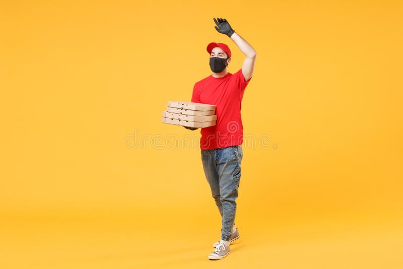
[(241, 102), (250, 79), (245, 81), (242, 69), (225, 77), (212, 75), (194, 84), (192, 102), (216, 105), (217, 123), (201, 128), (200, 149), (211, 150), (241, 145), (243, 126)]

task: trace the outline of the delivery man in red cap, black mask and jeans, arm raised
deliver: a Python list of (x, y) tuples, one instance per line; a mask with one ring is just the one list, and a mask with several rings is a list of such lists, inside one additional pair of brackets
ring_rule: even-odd
[[(239, 238), (235, 212), (243, 157), (241, 102), (252, 78), (256, 51), (231, 28), (226, 19), (215, 18), (216, 30), (230, 37), (245, 54), (235, 74), (228, 73), (231, 50), (223, 43), (210, 43), (210, 68), (213, 74), (194, 84), (192, 102), (216, 105), (217, 123), (201, 128), (201, 161), (213, 198), (222, 217), (221, 240), (209, 259), (222, 259), (230, 252), (230, 243)], [(197, 128), (185, 127), (195, 130)]]

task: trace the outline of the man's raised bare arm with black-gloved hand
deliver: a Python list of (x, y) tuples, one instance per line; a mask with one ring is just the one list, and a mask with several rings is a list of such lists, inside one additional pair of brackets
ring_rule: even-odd
[(230, 24), (227, 22), (226, 19), (221, 18), (217, 18), (217, 20), (215, 18), (213, 19), (217, 25), (215, 27), (216, 30), (219, 33), (226, 34), (227, 36), (229, 36), (232, 39), (232, 41), (235, 42), (238, 48), (243, 52), (243, 54), (245, 54), (246, 57), (242, 64), (242, 74), (243, 77), (245, 78), (245, 81), (249, 80), (253, 75), (255, 67), (256, 51), (251, 45), (249, 45), (248, 42), (245, 41), (245, 39), (243, 39), (240, 35), (235, 33), (235, 31), (231, 28)]

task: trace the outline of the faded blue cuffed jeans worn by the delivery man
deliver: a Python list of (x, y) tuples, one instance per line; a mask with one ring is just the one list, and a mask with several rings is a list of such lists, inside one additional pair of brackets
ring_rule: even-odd
[(222, 218), (221, 239), (226, 241), (230, 240), (235, 225), (242, 156), (241, 145), (201, 150), (203, 169)]

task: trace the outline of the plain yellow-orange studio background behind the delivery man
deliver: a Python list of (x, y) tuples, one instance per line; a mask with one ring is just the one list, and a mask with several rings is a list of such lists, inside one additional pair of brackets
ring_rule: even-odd
[[(241, 68), (213, 17), (257, 51), (244, 133), (270, 136), (244, 147), (221, 261), (199, 149), (167, 145), (199, 130), (160, 122), (211, 74), (209, 42)], [(2, 268), (403, 268), (401, 18), (398, 1), (3, 2)]]

